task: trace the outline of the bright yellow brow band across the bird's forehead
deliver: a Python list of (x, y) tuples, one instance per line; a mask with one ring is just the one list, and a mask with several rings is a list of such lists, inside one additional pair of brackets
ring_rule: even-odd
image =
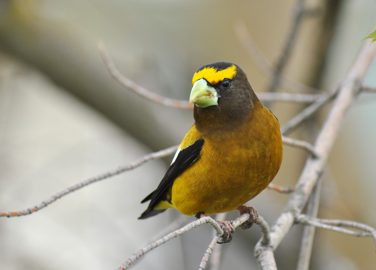
[(236, 74), (236, 66), (232, 65), (227, 69), (218, 70), (215, 67), (205, 67), (202, 70), (194, 73), (192, 79), (192, 85), (199, 79), (206, 79), (210, 84), (215, 85), (223, 79), (232, 79)]

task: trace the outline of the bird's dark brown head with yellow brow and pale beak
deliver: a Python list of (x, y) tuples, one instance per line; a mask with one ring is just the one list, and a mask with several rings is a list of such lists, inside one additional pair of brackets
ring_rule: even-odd
[(202, 134), (227, 132), (252, 113), (259, 102), (241, 67), (216, 62), (200, 67), (192, 79), (190, 102), (196, 128)]

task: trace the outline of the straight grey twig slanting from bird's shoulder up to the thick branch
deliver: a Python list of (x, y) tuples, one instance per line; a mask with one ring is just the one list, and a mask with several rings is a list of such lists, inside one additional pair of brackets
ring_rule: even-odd
[(298, 125), (302, 124), (307, 118), (311, 117), (318, 109), (320, 109), (326, 102), (331, 100), (337, 93), (338, 88), (334, 88), (334, 91), (327, 95), (320, 96), (314, 103), (306, 107), (299, 114), (294, 116), (290, 121), (281, 127), (282, 135), (287, 135), (294, 130)]

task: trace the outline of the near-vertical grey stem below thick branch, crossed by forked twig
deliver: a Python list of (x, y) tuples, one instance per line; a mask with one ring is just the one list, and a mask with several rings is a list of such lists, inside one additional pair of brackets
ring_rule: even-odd
[[(312, 190), (311, 196), (309, 197), (307, 203), (306, 216), (315, 218), (318, 213), (318, 206), (320, 204), (320, 192), (321, 192), (321, 183), (323, 178), (317, 182), (317, 185)], [(302, 240), (300, 244), (299, 259), (297, 263), (297, 270), (308, 270), (309, 262), (311, 261), (313, 240), (315, 237), (315, 226), (304, 226)]]

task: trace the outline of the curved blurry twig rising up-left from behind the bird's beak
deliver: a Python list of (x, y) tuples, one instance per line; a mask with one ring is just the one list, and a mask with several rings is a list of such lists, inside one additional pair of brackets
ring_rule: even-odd
[(97, 41), (97, 46), (98, 46), (100, 55), (102, 56), (103, 62), (105, 63), (108, 71), (110, 72), (112, 77), (117, 79), (117, 81), (120, 82), (123, 86), (129, 88), (130, 90), (142, 96), (143, 98), (149, 99), (158, 104), (162, 104), (168, 107), (179, 108), (179, 109), (186, 109), (186, 110), (193, 109), (193, 104), (190, 104), (188, 101), (177, 100), (177, 99), (167, 98), (165, 96), (158, 95), (136, 84), (134, 81), (131, 81), (130, 79), (124, 77), (120, 73), (120, 71), (115, 67), (115, 64), (109, 58), (109, 55), (102, 41)]

